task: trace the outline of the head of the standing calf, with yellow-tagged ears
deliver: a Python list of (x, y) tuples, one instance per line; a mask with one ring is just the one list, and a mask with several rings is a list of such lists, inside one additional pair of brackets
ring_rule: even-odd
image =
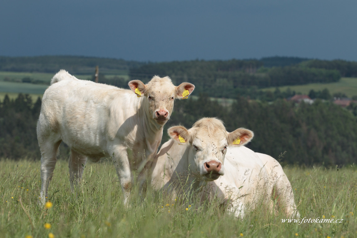
[(174, 99), (181, 99), (183, 95), (191, 94), (195, 89), (195, 85), (191, 83), (175, 86), (167, 76), (163, 78), (154, 76), (146, 85), (140, 80), (132, 80), (129, 82), (129, 87), (137, 95), (146, 97), (147, 112), (160, 125), (164, 125), (170, 119)]

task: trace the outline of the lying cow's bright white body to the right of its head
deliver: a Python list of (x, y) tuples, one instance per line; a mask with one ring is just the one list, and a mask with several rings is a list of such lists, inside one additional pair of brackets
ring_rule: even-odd
[(262, 203), (281, 209), (287, 217), (299, 217), (291, 184), (281, 165), (271, 156), (247, 147), (230, 148), (225, 158), (225, 175), (202, 188), (201, 200), (218, 198), (228, 212), (243, 217), (249, 208)]

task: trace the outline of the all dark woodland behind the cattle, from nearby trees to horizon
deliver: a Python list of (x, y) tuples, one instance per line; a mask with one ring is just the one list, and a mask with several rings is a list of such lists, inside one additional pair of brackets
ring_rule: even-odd
[[(94, 74), (99, 65), (99, 82), (127, 88), (128, 80), (148, 82), (152, 76), (170, 76), (174, 84), (195, 84), (193, 100), (177, 100), (171, 125), (191, 127), (201, 117), (221, 118), (228, 131), (246, 127), (255, 132), (248, 145), (256, 152), (281, 158), (283, 164), (325, 166), (357, 163), (357, 105), (334, 105), (328, 90), (313, 91), (313, 104), (286, 101), (291, 90), (263, 92), (264, 87), (336, 82), (341, 77), (357, 77), (357, 62), (315, 60), (297, 57), (268, 57), (248, 60), (193, 60), (136, 62), (76, 56), (0, 57), (0, 71), (52, 72), (66, 69), (71, 74)], [(128, 77), (114, 76), (116, 74)], [(111, 75), (110, 77), (108, 75)], [(94, 76), (90, 79), (94, 80)], [(357, 95), (357, 93), (356, 93)], [(343, 94), (341, 94), (343, 96)], [(209, 97), (232, 98), (222, 105)], [(255, 100), (257, 99), (257, 100)], [(36, 122), (40, 98), (29, 95), (15, 100), (5, 96), (0, 102), (0, 158), (40, 158)], [(162, 142), (168, 139), (166, 132)], [(61, 145), (61, 157), (69, 150)]]

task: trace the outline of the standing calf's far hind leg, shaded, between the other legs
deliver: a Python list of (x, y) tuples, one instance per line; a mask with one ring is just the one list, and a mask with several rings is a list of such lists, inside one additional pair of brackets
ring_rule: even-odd
[(74, 186), (79, 183), (82, 178), (84, 166), (87, 162), (87, 157), (71, 149), (71, 155), (69, 157), (69, 180), (71, 184), (71, 190), (74, 192)]

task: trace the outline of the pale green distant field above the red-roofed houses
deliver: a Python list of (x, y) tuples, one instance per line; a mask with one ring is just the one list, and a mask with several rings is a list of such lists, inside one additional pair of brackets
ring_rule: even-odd
[[(339, 82), (335, 83), (309, 83), (306, 85), (296, 85), (296, 86), (282, 86), (278, 87), (280, 91), (286, 91), (287, 88), (291, 91), (301, 92), (308, 94), (311, 89), (315, 91), (321, 91), (325, 88), (330, 91), (331, 94), (337, 92), (343, 92), (348, 97), (357, 95), (357, 78), (341, 78)], [(263, 91), (275, 91), (276, 87), (264, 88)]]

